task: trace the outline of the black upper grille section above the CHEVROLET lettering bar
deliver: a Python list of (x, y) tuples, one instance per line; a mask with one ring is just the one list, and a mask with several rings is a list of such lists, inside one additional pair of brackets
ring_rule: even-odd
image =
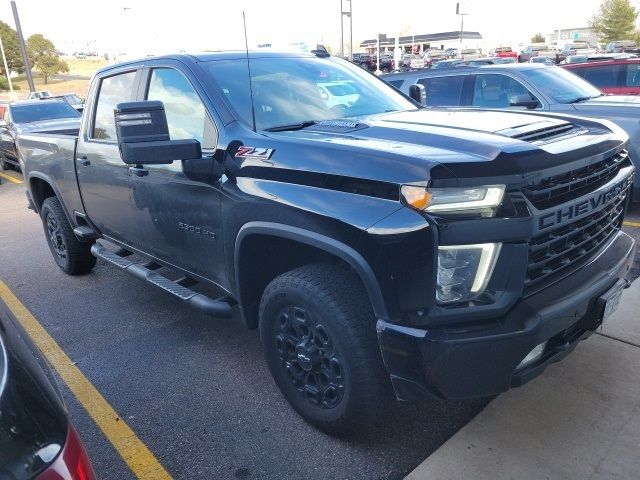
[(604, 185), (616, 176), (628, 157), (623, 150), (592, 165), (537, 180), (522, 192), (538, 209), (553, 207)]

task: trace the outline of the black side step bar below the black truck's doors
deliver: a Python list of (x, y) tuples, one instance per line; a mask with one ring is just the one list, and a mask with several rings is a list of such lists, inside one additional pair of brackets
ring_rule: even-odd
[[(134, 277), (149, 282), (156, 287), (160, 287), (201, 312), (214, 317), (231, 318), (232, 316), (231, 305), (227, 301), (222, 299), (214, 300), (206, 295), (194, 292), (180, 283), (169, 280), (167, 277), (164, 277), (139, 263), (123, 258), (117, 253), (104, 248), (99, 243), (93, 244), (91, 247), (91, 253), (95, 257), (106, 260)], [(147, 265), (155, 266), (150, 264)]]

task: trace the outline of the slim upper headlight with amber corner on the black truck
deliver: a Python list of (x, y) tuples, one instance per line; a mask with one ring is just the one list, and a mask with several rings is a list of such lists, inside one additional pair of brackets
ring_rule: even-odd
[(504, 185), (467, 188), (424, 188), (403, 185), (400, 193), (405, 203), (417, 210), (493, 217), (497, 207), (502, 203), (504, 189)]

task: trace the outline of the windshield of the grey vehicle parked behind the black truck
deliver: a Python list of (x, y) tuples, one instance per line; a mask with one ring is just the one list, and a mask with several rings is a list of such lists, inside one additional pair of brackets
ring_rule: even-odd
[(573, 103), (599, 97), (602, 92), (579, 76), (560, 67), (547, 67), (527, 72), (536, 88), (556, 103)]

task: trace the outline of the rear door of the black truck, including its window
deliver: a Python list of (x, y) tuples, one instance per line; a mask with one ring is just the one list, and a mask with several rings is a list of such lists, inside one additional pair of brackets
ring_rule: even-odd
[(85, 211), (103, 235), (132, 245), (136, 238), (129, 166), (120, 158), (114, 107), (135, 99), (136, 70), (100, 79), (78, 139), (76, 170)]

